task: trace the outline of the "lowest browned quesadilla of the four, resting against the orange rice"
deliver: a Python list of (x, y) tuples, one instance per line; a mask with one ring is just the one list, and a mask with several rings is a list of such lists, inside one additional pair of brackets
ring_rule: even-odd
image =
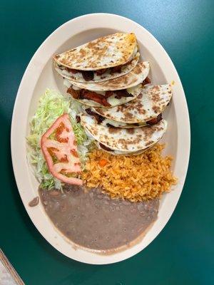
[(161, 140), (167, 128), (165, 120), (142, 128), (108, 128), (90, 115), (81, 115), (81, 125), (101, 145), (120, 152), (137, 152), (151, 147)]

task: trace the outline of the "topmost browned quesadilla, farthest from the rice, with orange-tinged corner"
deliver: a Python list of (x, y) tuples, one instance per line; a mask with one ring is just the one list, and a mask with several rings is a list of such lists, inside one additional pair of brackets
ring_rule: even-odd
[(72, 81), (102, 82), (129, 73), (140, 53), (134, 33), (113, 33), (54, 56), (56, 71)]

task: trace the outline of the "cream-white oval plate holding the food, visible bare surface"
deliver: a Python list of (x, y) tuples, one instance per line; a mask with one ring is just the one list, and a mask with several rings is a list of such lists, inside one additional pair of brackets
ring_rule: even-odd
[[(168, 131), (163, 141), (165, 153), (173, 155), (173, 172), (178, 177), (178, 185), (161, 199), (158, 219), (143, 240), (123, 252), (101, 255), (84, 249), (75, 249), (55, 229), (41, 205), (29, 207), (31, 199), (38, 195), (38, 182), (26, 160), (26, 135), (29, 133), (29, 120), (36, 110), (39, 97), (46, 88), (61, 90), (62, 80), (52, 67), (51, 58), (55, 53), (65, 51), (116, 31), (134, 32), (138, 38), (143, 61), (150, 61), (153, 83), (171, 83), (173, 102), (164, 113), (168, 120)], [(71, 259), (89, 264), (111, 264), (128, 259), (141, 252), (161, 232), (168, 222), (180, 197), (188, 169), (190, 153), (190, 123), (188, 107), (178, 73), (168, 54), (160, 43), (145, 28), (134, 21), (113, 14), (88, 14), (68, 21), (51, 33), (34, 54), (26, 68), (14, 105), (11, 125), (11, 155), (16, 184), (21, 199), (32, 222), (44, 238), (59, 252)]]

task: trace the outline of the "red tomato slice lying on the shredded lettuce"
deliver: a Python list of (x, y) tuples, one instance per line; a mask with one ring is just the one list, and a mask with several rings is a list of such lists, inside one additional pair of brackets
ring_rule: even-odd
[(54, 177), (68, 184), (83, 185), (81, 179), (72, 177), (81, 172), (81, 163), (68, 114), (61, 115), (41, 137), (41, 150)]

